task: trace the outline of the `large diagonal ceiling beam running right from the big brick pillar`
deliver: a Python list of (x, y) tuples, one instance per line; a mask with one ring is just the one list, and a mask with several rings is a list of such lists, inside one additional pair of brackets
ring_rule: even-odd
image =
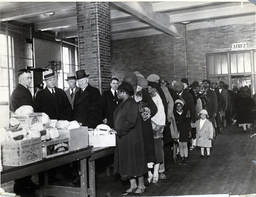
[(181, 24), (171, 24), (170, 15), (167, 13), (154, 13), (151, 2), (113, 1), (112, 3), (174, 37), (182, 36)]

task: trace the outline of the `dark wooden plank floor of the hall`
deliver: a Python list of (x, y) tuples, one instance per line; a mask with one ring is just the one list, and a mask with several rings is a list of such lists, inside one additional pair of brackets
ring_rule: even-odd
[[(244, 134), (235, 124), (222, 131), (211, 148), (210, 159), (199, 159), (200, 148), (189, 153), (187, 166), (176, 162), (166, 174), (167, 179), (150, 184), (143, 196), (177, 196), (201, 194), (255, 194), (256, 193), (256, 129), (252, 134)], [(251, 137), (252, 136), (252, 137)], [(206, 155), (206, 153), (205, 153)], [(106, 176), (104, 159), (96, 161), (96, 196), (114, 197), (130, 187), (129, 181), (122, 181), (120, 176)], [(57, 177), (56, 185), (68, 186), (72, 180)], [(38, 182), (37, 176), (33, 181)], [(146, 176), (145, 176), (146, 181)], [(13, 182), (1, 184), (12, 192)], [(37, 197), (35, 194), (21, 194), (22, 197)]]

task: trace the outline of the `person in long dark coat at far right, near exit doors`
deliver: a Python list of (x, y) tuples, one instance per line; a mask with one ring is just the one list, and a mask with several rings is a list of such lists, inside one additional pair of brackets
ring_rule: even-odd
[(253, 124), (253, 112), (252, 107), (254, 107), (254, 102), (250, 94), (245, 92), (243, 86), (240, 87), (240, 92), (236, 97), (236, 109), (237, 109), (237, 122), (239, 126), (242, 126), (244, 133), (246, 133), (251, 128)]

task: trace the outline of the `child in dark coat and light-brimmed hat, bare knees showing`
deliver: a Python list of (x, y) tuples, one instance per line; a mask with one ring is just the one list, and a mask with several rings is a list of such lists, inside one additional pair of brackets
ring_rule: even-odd
[(191, 137), (191, 125), (190, 118), (187, 117), (187, 112), (183, 110), (184, 103), (181, 100), (176, 100), (174, 103), (176, 111), (173, 112), (177, 129), (179, 132), (179, 149), (181, 162), (179, 164), (187, 165), (188, 164), (188, 142)]

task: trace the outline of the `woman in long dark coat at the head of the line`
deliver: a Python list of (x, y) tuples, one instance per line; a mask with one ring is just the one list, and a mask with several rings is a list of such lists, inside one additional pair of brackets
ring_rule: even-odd
[[(114, 172), (122, 178), (129, 178), (131, 187), (122, 195), (142, 195), (145, 192), (143, 175), (148, 172), (144, 150), (143, 133), (139, 108), (130, 96), (133, 87), (123, 82), (118, 87), (117, 97), (122, 102), (114, 112), (114, 127), (116, 133), (116, 148), (114, 159)], [(139, 185), (137, 187), (136, 178)]]

